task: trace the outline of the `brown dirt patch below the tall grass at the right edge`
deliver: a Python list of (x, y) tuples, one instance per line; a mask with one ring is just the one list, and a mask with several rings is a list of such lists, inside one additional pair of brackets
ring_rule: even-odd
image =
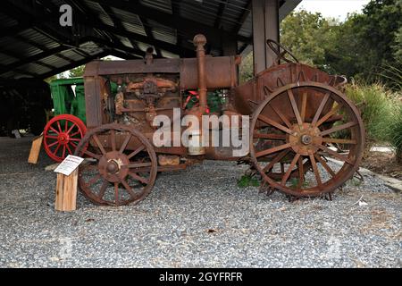
[(398, 164), (393, 153), (370, 152), (364, 157), (362, 167), (398, 180), (402, 180), (402, 165)]

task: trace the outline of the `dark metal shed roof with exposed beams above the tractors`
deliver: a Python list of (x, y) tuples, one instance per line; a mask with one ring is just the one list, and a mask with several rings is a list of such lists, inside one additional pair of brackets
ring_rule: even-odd
[[(281, 0), (283, 19), (301, 0)], [(73, 26), (59, 24), (62, 4)], [(0, 13), (0, 78), (45, 79), (93, 59), (193, 56), (192, 38), (204, 33), (208, 50), (222, 54), (222, 38), (238, 52), (252, 42), (251, 0), (4, 0)]]

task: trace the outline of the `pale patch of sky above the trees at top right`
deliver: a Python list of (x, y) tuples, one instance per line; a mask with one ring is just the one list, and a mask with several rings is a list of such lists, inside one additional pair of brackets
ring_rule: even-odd
[(303, 7), (305, 10), (322, 13), (324, 17), (339, 18), (343, 21), (348, 13), (361, 12), (369, 0), (303, 0), (296, 10)]

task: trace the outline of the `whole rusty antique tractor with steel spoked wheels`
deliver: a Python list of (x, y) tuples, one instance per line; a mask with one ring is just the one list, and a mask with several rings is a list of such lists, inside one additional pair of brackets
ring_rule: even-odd
[[(88, 199), (111, 206), (138, 203), (153, 188), (157, 172), (182, 170), (203, 159), (246, 162), (262, 189), (289, 198), (331, 196), (353, 176), (362, 158), (364, 126), (342, 92), (345, 78), (298, 63), (284, 46), (267, 40), (276, 63), (239, 85), (239, 56), (205, 55), (205, 43), (203, 35), (194, 38), (197, 58), (154, 59), (148, 50), (144, 60), (87, 64), (88, 131), (75, 154), (86, 157), (79, 186)], [(112, 83), (118, 86), (115, 95)], [(219, 112), (210, 111), (211, 92), (222, 98)], [(188, 108), (191, 94), (197, 102)], [(183, 135), (183, 116), (202, 122), (208, 113), (230, 121), (193, 129), (188, 145), (172, 143)], [(154, 142), (162, 128), (155, 125), (159, 115), (173, 122), (165, 138), (172, 144)], [(247, 130), (235, 126), (234, 118), (247, 121)], [(213, 132), (235, 129), (249, 137), (241, 157), (233, 156), (231, 141), (200, 144), (211, 141)]]

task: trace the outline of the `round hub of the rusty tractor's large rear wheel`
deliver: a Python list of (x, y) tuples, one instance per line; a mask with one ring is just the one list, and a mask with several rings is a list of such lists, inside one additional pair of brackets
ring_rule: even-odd
[(303, 123), (301, 128), (294, 124), (291, 129), (293, 133), (289, 136), (289, 143), (293, 151), (302, 156), (309, 156), (318, 151), (315, 146), (322, 144), (321, 130), (310, 123)]

